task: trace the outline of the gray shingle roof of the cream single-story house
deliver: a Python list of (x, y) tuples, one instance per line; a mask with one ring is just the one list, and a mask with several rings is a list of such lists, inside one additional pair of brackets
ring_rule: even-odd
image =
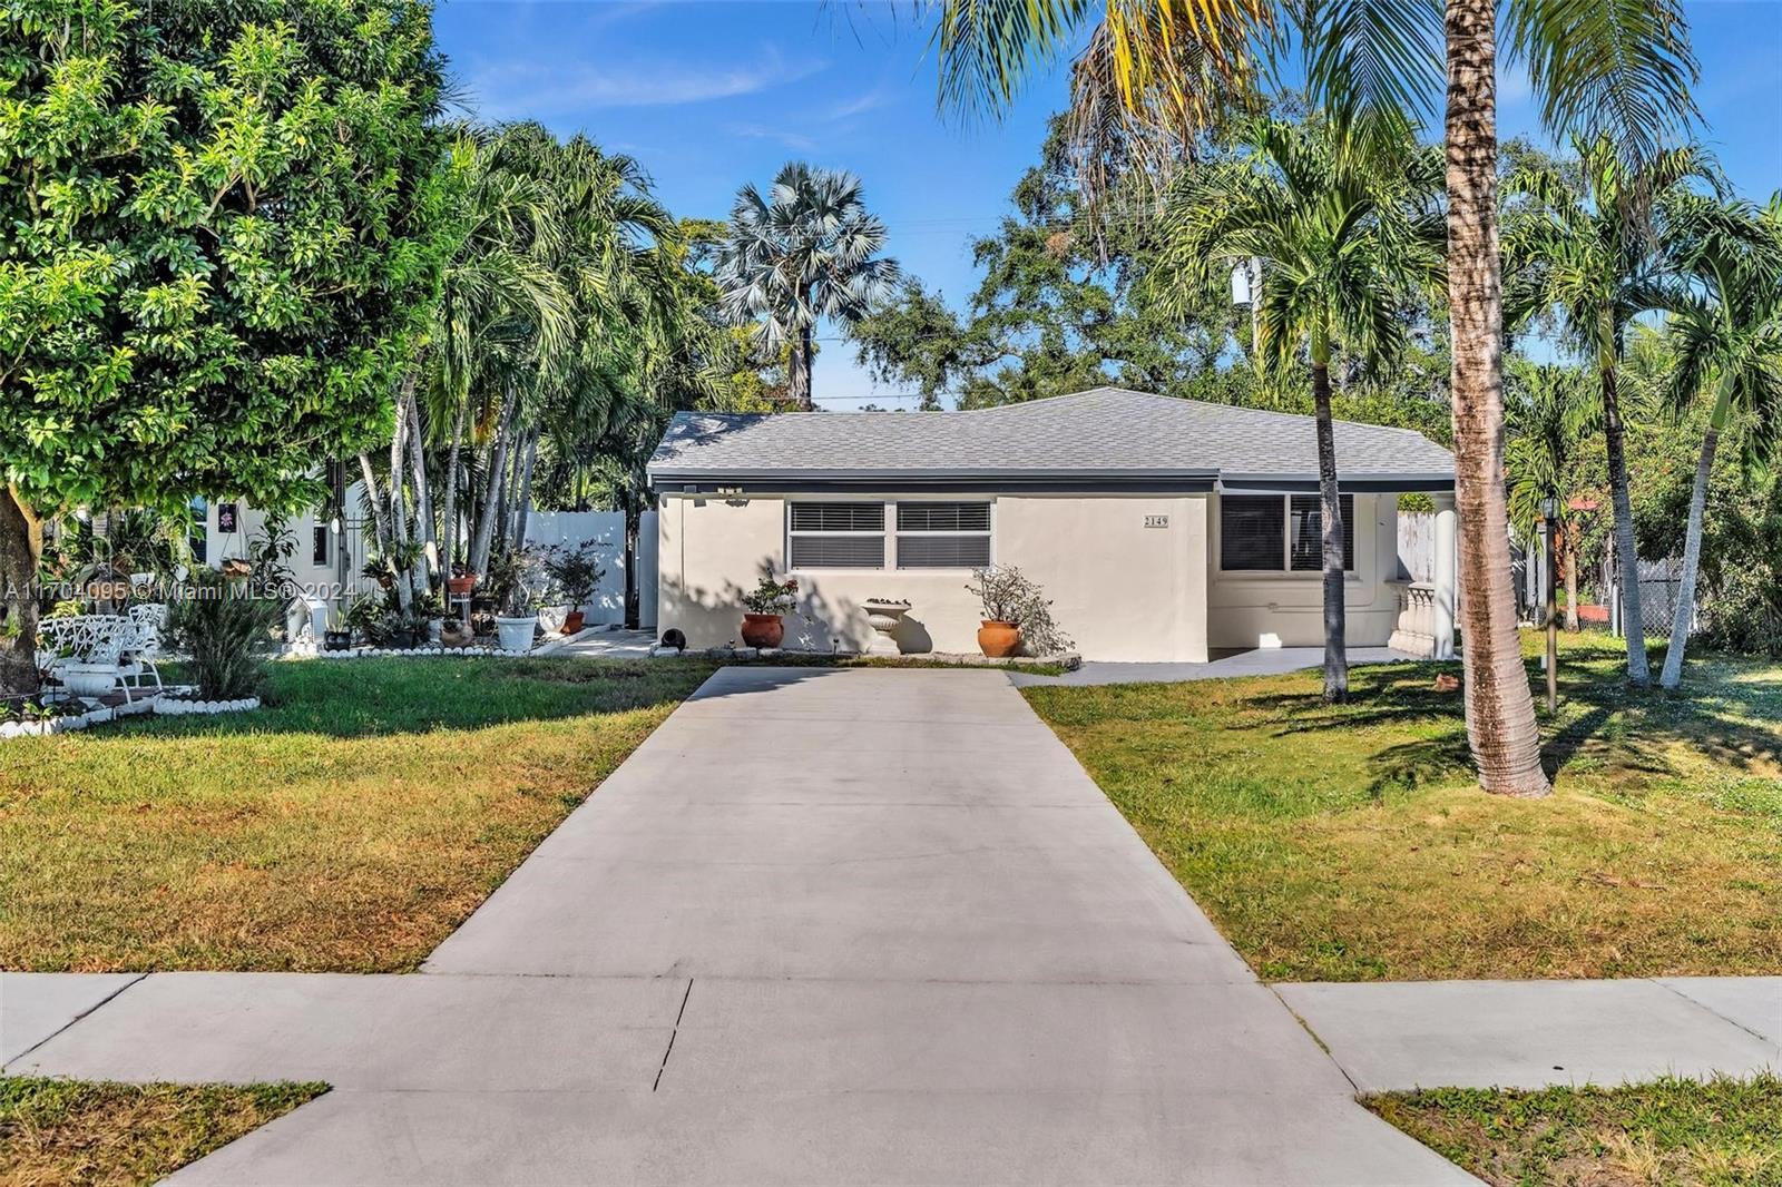
[[(1454, 460), (1413, 430), (1336, 422), (1344, 479), (1452, 478)], [(1098, 387), (971, 412), (683, 412), (650, 481), (766, 476), (998, 474), (1315, 478), (1306, 415)]]

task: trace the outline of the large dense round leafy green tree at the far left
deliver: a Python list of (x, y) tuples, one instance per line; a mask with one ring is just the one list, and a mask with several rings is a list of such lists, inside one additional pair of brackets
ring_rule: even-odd
[(387, 431), (437, 273), (415, 0), (0, 11), (0, 686), (43, 517), (290, 501)]

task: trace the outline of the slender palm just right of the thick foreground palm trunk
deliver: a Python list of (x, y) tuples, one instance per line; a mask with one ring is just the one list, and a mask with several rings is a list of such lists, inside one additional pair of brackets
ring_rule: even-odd
[(1622, 620), (1627, 624), (1627, 679), (1652, 681), (1639, 610), (1639, 554), (1634, 549), (1634, 508), (1627, 485), (1627, 444), (1618, 372), (1627, 330), (1639, 314), (1664, 305), (1668, 262), (1643, 209), (1663, 205), (1691, 178), (1714, 180), (1696, 148), (1663, 151), (1627, 168), (1607, 139), (1574, 141), (1572, 171), (1534, 164), (1511, 173), (1506, 191), (1531, 205), (1506, 219), (1506, 319), (1516, 326), (1556, 310), (1570, 348), (1595, 360), (1604, 444), (1609, 454), (1609, 501), (1614, 508), (1614, 556), (1622, 569)]

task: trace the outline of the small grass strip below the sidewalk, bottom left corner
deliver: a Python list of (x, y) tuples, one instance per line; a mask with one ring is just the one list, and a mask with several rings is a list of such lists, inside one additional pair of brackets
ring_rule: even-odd
[(0, 1078), (0, 1182), (151, 1183), (324, 1091)]

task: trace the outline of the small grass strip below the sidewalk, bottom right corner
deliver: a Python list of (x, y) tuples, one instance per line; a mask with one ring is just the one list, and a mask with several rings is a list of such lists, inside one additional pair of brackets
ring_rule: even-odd
[(1435, 1089), (1363, 1103), (1488, 1183), (1782, 1183), (1782, 1080)]

